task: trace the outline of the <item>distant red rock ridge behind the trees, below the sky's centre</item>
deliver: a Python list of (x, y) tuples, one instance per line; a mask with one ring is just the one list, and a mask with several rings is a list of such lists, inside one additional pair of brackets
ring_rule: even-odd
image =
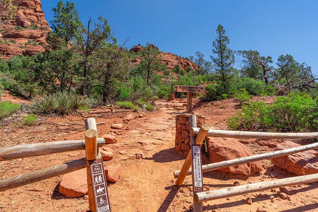
[[(155, 46), (154, 46), (155, 47)], [(134, 46), (130, 49), (130, 52), (139, 52), (139, 51), (142, 51), (142, 47), (140, 46)], [(163, 64), (166, 64), (166, 66), (169, 68), (169, 69), (172, 69), (173, 67), (175, 67), (177, 64), (179, 64), (179, 66), (182, 68), (182, 69), (186, 69), (187, 66), (190, 66), (193, 70), (193, 66), (192, 66), (192, 62), (189, 61), (189, 60), (185, 60), (183, 58), (180, 58), (172, 53), (167, 53), (167, 52), (161, 52), (159, 51), (159, 54), (162, 58), (162, 63)], [(137, 58), (137, 63), (140, 62), (140, 59), (141, 58)]]

